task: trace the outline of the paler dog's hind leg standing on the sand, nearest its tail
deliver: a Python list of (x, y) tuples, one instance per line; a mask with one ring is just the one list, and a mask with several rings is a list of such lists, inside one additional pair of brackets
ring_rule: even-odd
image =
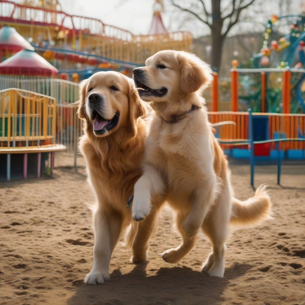
[(228, 235), (228, 223), (231, 215), (230, 192), (224, 189), (216, 199), (212, 209), (202, 224), (203, 232), (209, 237), (213, 252), (203, 264), (202, 271), (222, 278), (224, 276), (224, 242)]

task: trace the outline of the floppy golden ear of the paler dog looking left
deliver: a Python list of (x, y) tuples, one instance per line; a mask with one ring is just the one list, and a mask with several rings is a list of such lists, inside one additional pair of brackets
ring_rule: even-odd
[(181, 89), (183, 92), (192, 93), (211, 83), (213, 74), (210, 66), (197, 56), (179, 52), (177, 60), (181, 69)]

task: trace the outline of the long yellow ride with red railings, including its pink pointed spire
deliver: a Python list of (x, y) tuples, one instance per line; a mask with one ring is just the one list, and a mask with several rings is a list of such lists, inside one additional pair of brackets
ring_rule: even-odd
[(167, 33), (160, 17), (160, 0), (154, 9), (148, 35), (133, 35), (98, 19), (69, 15), (57, 0), (26, 0), (24, 4), (0, 0), (0, 25), (14, 27), (59, 70), (90, 66), (90, 70), (131, 74), (154, 53), (163, 49), (188, 51), (192, 43), (190, 32)]

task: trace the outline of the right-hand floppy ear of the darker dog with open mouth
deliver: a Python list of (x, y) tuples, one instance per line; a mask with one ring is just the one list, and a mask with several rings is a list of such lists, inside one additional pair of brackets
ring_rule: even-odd
[(137, 120), (139, 117), (144, 117), (146, 114), (145, 106), (142, 104), (138, 91), (135, 88), (133, 81), (129, 81), (128, 89), (129, 102), (129, 123), (128, 127), (131, 131), (132, 137), (137, 134)]

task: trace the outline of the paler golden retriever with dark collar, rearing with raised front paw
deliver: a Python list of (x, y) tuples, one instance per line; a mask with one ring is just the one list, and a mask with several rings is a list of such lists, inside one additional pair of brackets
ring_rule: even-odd
[(271, 202), (264, 185), (245, 202), (234, 198), (228, 162), (213, 135), (201, 94), (211, 80), (206, 63), (172, 50), (157, 52), (145, 67), (134, 69), (139, 95), (152, 102), (155, 114), (145, 142), (144, 172), (134, 188), (132, 218), (145, 223), (166, 200), (175, 210), (182, 243), (167, 250), (163, 259), (181, 260), (201, 227), (213, 247), (202, 271), (223, 277), (228, 225), (268, 218)]

